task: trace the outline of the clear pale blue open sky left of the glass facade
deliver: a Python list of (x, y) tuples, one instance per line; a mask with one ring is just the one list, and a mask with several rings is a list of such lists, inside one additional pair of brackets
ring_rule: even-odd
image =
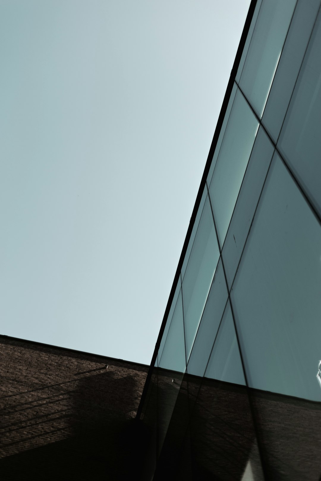
[(0, 334), (150, 364), (249, 0), (1, 0)]

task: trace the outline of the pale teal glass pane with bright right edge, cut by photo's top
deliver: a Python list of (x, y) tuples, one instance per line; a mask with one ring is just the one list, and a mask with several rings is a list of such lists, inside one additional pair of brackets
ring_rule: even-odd
[(263, 1), (240, 79), (240, 87), (261, 117), (290, 25), (296, 0)]

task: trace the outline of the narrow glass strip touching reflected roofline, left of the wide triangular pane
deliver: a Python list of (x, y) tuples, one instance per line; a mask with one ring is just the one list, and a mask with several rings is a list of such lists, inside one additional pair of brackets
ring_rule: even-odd
[(195, 342), (193, 344), (192, 353), (187, 364), (187, 372), (189, 374), (204, 376), (227, 298), (228, 291), (223, 265), (222, 261), (219, 260)]

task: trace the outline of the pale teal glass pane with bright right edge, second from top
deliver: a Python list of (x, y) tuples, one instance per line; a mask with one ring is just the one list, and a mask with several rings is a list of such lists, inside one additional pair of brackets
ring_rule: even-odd
[(257, 129), (257, 119), (238, 90), (209, 186), (220, 245), (230, 224)]

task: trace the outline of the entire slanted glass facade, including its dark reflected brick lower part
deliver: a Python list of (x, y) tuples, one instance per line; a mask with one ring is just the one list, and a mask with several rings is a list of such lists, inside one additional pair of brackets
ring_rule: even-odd
[(148, 480), (321, 477), (320, 0), (252, 1), (138, 418)]

